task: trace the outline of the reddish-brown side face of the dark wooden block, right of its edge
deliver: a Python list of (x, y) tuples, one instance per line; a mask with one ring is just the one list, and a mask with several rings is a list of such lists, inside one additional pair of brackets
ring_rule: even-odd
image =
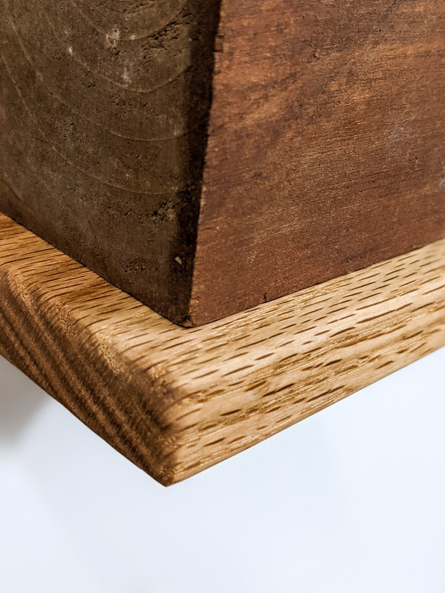
[(445, 235), (443, 0), (223, 0), (190, 317)]

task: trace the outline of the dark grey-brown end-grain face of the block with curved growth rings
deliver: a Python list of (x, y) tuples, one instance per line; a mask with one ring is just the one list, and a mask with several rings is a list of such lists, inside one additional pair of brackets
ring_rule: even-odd
[(214, 0), (1, 0), (0, 209), (178, 323)]

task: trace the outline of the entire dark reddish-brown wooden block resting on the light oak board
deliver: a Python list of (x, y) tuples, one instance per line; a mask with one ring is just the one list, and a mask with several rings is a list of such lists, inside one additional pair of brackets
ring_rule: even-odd
[(0, 52), (0, 209), (176, 323), (445, 236), (443, 0), (1, 0)]

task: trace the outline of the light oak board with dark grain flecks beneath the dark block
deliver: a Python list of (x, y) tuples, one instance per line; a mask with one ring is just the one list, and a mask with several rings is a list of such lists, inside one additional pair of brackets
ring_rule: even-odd
[(163, 484), (445, 345), (445, 240), (186, 329), (0, 215), (0, 283), (1, 353)]

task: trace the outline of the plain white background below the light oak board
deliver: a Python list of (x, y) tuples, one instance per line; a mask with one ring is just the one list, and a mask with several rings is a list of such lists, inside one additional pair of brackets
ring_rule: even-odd
[(0, 358), (0, 590), (443, 593), (444, 368), (166, 489)]

